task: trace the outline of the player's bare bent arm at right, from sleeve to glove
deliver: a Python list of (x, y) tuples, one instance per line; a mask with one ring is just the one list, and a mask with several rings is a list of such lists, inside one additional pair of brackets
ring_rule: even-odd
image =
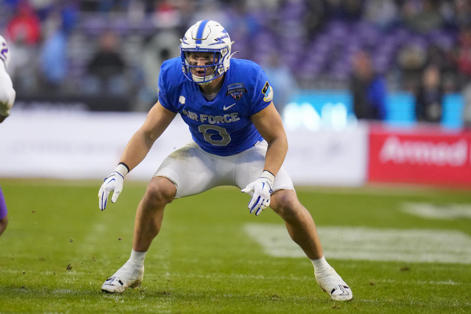
[(270, 105), (252, 115), (250, 119), (268, 143), (263, 170), (267, 170), (273, 176), (276, 176), (288, 151), (288, 139), (280, 114), (271, 102)]

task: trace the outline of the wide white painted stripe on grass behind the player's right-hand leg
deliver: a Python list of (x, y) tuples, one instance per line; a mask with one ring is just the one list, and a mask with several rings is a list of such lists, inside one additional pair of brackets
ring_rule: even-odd
[[(306, 257), (283, 225), (251, 223), (244, 229), (268, 255)], [(331, 259), (471, 264), (471, 237), (459, 231), (337, 226), (317, 231)]]

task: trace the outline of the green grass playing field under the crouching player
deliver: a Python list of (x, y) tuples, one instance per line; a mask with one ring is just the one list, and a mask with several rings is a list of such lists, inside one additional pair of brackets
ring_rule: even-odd
[[(281, 219), (271, 210), (250, 215), (247, 196), (233, 187), (170, 204), (141, 287), (121, 295), (101, 292), (103, 281), (129, 257), (135, 207), (146, 184), (125, 182), (118, 202), (100, 211), (100, 183), (0, 180), (10, 218), (0, 237), (0, 313), (471, 312), (470, 191), (298, 188), (321, 240), (331, 243), (324, 244), (327, 260), (353, 290), (351, 302), (339, 303), (316, 285), (307, 258), (288, 257), (296, 248), (277, 251), (250, 235), (248, 230), (261, 232), (268, 245), (270, 239), (280, 246), (288, 242), (287, 234), (271, 234), (282, 230)], [(431, 204), (445, 213), (461, 205), (461, 215), (425, 218), (404, 211), (404, 204)], [(386, 242), (370, 245), (377, 241), (370, 236), (336, 251), (331, 246), (338, 241), (322, 238), (329, 230), (350, 230), (341, 235), (347, 239), (358, 227), (364, 228), (359, 235), (374, 232)], [(383, 239), (382, 230), (406, 233), (400, 240)], [(421, 245), (407, 233), (422, 230), (440, 236), (426, 236)], [(447, 233), (463, 242), (447, 244)], [(329, 258), (328, 252), (348, 249), (352, 259)], [(357, 259), (363, 250), (373, 260)], [(451, 261), (413, 261), (433, 261), (443, 250)]]

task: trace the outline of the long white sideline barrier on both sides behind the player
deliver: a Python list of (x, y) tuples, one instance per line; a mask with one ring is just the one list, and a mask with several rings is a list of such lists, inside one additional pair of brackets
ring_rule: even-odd
[[(0, 178), (103, 179), (145, 118), (141, 112), (17, 110), (0, 124)], [(366, 126), (287, 135), (284, 167), (295, 184), (365, 183)], [(163, 158), (189, 140), (177, 116), (129, 180), (149, 181)]]

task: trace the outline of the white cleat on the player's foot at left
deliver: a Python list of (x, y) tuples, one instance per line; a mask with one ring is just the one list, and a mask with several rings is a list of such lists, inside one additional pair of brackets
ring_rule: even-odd
[(106, 279), (102, 285), (102, 291), (106, 293), (122, 293), (126, 288), (136, 288), (144, 277), (144, 266), (135, 267), (126, 262), (113, 276)]

